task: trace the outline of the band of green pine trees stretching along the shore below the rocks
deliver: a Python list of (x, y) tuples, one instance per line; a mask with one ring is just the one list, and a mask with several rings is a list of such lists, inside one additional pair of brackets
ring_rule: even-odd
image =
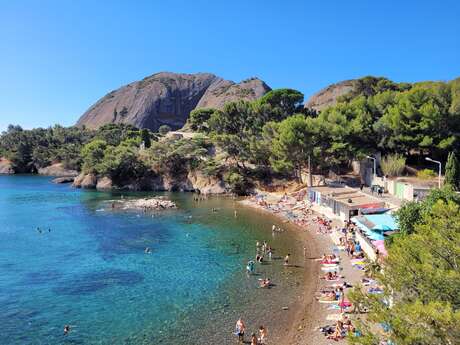
[(241, 190), (250, 180), (299, 178), (308, 158), (314, 169), (341, 170), (380, 151), (393, 157), (385, 163), (390, 174), (397, 174), (402, 156), (445, 161), (460, 148), (460, 79), (408, 84), (366, 77), (319, 114), (304, 108), (303, 100), (299, 91), (278, 89), (253, 102), (227, 103), (222, 110), (197, 109), (185, 128), (201, 133), (198, 140), (169, 136), (166, 126), (155, 134), (113, 124), (97, 131), (10, 126), (0, 137), (0, 155), (19, 172), (61, 161), (120, 181), (147, 172), (177, 176), (198, 169)]

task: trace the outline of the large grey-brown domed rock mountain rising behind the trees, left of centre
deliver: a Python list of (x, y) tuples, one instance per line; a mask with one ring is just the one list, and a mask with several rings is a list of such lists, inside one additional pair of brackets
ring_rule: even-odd
[(108, 93), (91, 106), (77, 125), (97, 128), (128, 123), (157, 130), (161, 125), (181, 128), (197, 107), (221, 108), (239, 99), (254, 100), (270, 88), (259, 79), (236, 84), (209, 73), (161, 72)]

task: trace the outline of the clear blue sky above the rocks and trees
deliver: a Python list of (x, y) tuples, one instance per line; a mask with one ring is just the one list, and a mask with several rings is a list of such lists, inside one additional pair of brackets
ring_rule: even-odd
[(160, 71), (319, 89), (460, 76), (460, 1), (0, 0), (0, 131), (73, 125)]

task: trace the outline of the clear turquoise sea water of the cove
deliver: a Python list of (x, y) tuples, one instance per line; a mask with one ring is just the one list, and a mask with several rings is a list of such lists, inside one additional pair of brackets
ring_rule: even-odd
[(259, 266), (270, 290), (244, 272), (256, 240), (300, 260), (289, 233), (272, 238), (272, 217), (225, 198), (169, 196), (178, 210), (113, 211), (119, 193), (0, 176), (0, 343), (233, 344), (240, 315), (255, 329), (294, 303), (301, 269)]

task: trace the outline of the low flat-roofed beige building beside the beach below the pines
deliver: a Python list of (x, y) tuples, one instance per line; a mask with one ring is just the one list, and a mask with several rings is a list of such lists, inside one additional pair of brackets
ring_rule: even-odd
[(343, 221), (360, 214), (388, 210), (384, 200), (343, 185), (311, 187), (308, 198), (313, 205), (320, 206), (327, 216)]

